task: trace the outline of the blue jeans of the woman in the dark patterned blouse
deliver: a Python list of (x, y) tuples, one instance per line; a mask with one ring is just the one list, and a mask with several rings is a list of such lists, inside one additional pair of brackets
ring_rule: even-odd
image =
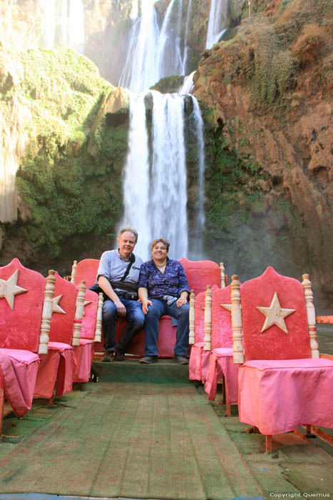
[(177, 356), (186, 356), (188, 354), (188, 334), (190, 306), (184, 304), (177, 307), (177, 301), (171, 306), (159, 299), (150, 299), (153, 306), (148, 306), (148, 313), (145, 315), (145, 355), (158, 356), (158, 320), (163, 314), (173, 316), (178, 320), (177, 336), (174, 353)]

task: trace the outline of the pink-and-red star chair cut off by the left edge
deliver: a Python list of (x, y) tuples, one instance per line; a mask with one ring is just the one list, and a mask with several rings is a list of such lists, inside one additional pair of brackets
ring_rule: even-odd
[(19, 417), (31, 408), (48, 353), (54, 281), (54, 271), (45, 279), (19, 259), (0, 268), (0, 387)]

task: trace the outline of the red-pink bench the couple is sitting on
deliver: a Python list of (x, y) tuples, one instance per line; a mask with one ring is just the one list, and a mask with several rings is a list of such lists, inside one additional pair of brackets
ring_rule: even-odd
[[(207, 284), (220, 286), (221, 280), (225, 281), (223, 264), (216, 264), (212, 261), (189, 261), (180, 259), (183, 264), (188, 284), (195, 294), (205, 291)], [(74, 261), (72, 267), (71, 281), (78, 284), (82, 279), (86, 281), (87, 288), (96, 281), (98, 270), (98, 259), (83, 259), (80, 262)], [(125, 321), (118, 319), (116, 326), (116, 341), (121, 336), (125, 327)], [(171, 324), (170, 316), (162, 316), (159, 324), (158, 353), (161, 358), (173, 357), (173, 346), (175, 345), (176, 328)], [(133, 339), (127, 354), (143, 356), (145, 349), (145, 334), (140, 332)], [(96, 346), (96, 351), (103, 351), (103, 343)]]

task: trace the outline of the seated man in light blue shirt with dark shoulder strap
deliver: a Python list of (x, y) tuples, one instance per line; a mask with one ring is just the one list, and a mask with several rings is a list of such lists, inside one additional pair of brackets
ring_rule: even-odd
[[(98, 286), (104, 292), (103, 339), (106, 354), (103, 361), (123, 361), (133, 337), (143, 328), (145, 316), (138, 302), (140, 257), (133, 254), (138, 241), (135, 229), (124, 227), (118, 231), (118, 250), (105, 251), (97, 271)], [(117, 318), (127, 321), (125, 330), (115, 342)], [(116, 349), (116, 351), (115, 351)]]

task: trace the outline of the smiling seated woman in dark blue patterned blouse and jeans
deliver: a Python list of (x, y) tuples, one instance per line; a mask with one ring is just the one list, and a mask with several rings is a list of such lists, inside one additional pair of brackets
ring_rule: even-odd
[(175, 361), (188, 364), (188, 280), (178, 261), (168, 258), (170, 243), (167, 239), (154, 239), (150, 261), (140, 269), (138, 296), (145, 314), (145, 356), (140, 363), (158, 361), (158, 320), (163, 314), (178, 320)]

